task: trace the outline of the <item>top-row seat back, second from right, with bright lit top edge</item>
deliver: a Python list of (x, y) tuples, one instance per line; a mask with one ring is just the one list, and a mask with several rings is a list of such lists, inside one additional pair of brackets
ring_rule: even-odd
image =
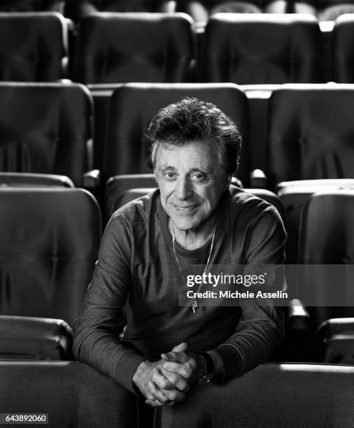
[(318, 22), (310, 15), (213, 15), (200, 71), (204, 82), (321, 82)]

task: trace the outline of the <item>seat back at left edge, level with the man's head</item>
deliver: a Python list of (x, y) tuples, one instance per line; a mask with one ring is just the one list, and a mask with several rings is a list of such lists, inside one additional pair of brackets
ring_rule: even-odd
[(83, 85), (0, 83), (0, 171), (59, 174), (80, 186), (91, 138)]

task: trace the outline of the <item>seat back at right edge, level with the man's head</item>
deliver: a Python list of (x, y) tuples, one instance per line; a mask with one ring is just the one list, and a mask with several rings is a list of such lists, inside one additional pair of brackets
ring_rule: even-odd
[(354, 178), (354, 85), (284, 85), (269, 101), (269, 185)]

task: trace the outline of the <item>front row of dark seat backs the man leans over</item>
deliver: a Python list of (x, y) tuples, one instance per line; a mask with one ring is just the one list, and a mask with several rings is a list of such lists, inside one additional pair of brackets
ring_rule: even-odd
[[(227, 385), (197, 387), (155, 413), (155, 428), (353, 426), (354, 368), (264, 364)], [(0, 362), (0, 412), (48, 413), (49, 426), (143, 428), (136, 397), (78, 362)], [(149, 427), (149, 428), (152, 428)]]

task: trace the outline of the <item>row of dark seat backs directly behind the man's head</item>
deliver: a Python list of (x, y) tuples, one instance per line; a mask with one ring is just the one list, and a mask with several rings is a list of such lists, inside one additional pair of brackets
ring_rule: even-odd
[[(189, 96), (213, 102), (239, 125), (237, 176), (245, 187), (354, 178), (354, 85), (283, 85), (269, 100), (245, 90), (248, 97), (231, 83), (136, 83), (95, 87), (90, 94), (76, 83), (0, 83), (0, 171), (59, 174), (91, 189), (98, 185), (93, 168), (102, 183), (148, 173), (148, 123), (160, 108)], [(255, 173), (250, 178), (253, 169), (262, 169), (268, 184)]]

